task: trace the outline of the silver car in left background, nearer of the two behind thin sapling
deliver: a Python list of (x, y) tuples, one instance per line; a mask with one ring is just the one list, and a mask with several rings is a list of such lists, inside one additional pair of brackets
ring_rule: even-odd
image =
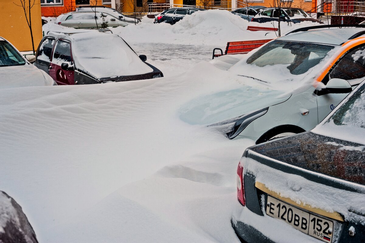
[[(119, 20), (118, 18), (104, 13), (106, 15), (105, 20), (108, 21), (108, 26), (110, 27), (118, 27), (118, 26), (127, 26), (128, 23)], [(103, 19), (101, 17), (101, 12), (69, 12), (62, 15), (61, 18), (57, 19), (57, 24), (62, 26), (81, 29), (81, 28), (100, 28), (103, 23)]]

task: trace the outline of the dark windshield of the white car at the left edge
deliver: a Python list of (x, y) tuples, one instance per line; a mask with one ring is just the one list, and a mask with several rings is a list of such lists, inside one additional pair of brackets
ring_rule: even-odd
[(0, 67), (25, 65), (26, 61), (8, 42), (0, 40)]

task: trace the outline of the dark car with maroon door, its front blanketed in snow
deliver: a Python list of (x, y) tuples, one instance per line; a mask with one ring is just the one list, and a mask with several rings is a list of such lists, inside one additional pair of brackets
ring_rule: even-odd
[(97, 30), (49, 31), (36, 53), (35, 66), (59, 85), (99, 84), (163, 77), (118, 35)]

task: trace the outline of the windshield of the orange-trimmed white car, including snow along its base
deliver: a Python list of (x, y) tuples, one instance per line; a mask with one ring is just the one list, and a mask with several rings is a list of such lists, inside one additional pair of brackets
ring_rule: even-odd
[(268, 82), (273, 89), (311, 85), (338, 48), (305, 42), (274, 40), (254, 50), (230, 71)]

